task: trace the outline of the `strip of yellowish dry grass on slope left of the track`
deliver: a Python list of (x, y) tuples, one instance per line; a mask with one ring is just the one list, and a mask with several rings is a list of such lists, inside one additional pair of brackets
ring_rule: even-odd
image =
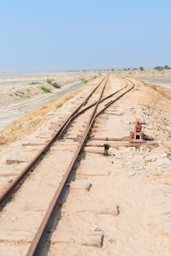
[(26, 116), (20, 117), (12, 124), (9, 124), (0, 132), (0, 145), (11, 143), (30, 135), (38, 127), (50, 119), (50, 117), (47, 116), (47, 113), (56, 111), (58, 108), (64, 105), (67, 100), (72, 99), (79, 91), (86, 88), (86, 86), (88, 86), (88, 84), (83, 85), (70, 93), (61, 95), (57, 99), (51, 100), (46, 105), (37, 108), (31, 113), (26, 114)]

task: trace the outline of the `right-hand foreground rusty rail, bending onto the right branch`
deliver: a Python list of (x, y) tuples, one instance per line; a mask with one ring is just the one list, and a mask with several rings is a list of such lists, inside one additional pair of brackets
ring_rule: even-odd
[[(104, 84), (104, 88), (106, 86), (106, 83)], [(50, 206), (47, 208), (47, 211), (46, 211), (46, 214), (44, 216), (44, 218), (42, 219), (42, 222), (40, 223), (39, 225), (39, 228), (37, 230), (37, 233), (35, 234), (34, 236), (34, 239), (31, 241), (31, 244), (28, 248), (28, 252), (26, 254), (26, 256), (36, 256), (36, 252), (37, 252), (37, 247), (39, 246), (39, 242), (41, 241), (41, 238), (43, 236), (43, 233), (45, 232), (45, 228), (47, 227), (47, 223), (49, 222), (50, 220), (50, 217), (52, 216), (53, 214), (53, 210), (55, 207), (57, 207), (57, 210), (59, 208), (58, 206), (58, 199), (61, 195), (61, 192), (63, 191), (64, 189), (64, 186), (66, 184), (66, 181), (68, 180), (69, 178), (69, 175), (70, 173), (72, 172), (72, 168), (75, 166), (75, 162), (77, 161), (77, 158), (79, 157), (80, 155), (80, 151), (82, 151), (83, 149), (83, 146), (85, 145), (86, 143), (86, 140), (88, 138), (88, 134), (89, 132), (91, 131), (91, 127), (93, 126), (94, 124), (94, 120), (97, 116), (99, 116), (105, 109), (107, 109), (111, 104), (113, 104), (115, 101), (117, 101), (118, 99), (120, 99), (121, 97), (123, 97), (124, 94), (126, 94), (127, 92), (131, 91), (132, 89), (134, 88), (134, 86), (132, 86), (130, 89), (126, 90), (125, 92), (123, 92), (123, 94), (121, 94), (120, 96), (118, 96), (116, 99), (113, 99), (113, 101), (109, 102), (108, 105), (104, 106), (104, 108), (102, 110), (100, 110), (98, 113), (96, 113), (96, 109), (99, 105), (99, 101), (100, 101), (100, 97), (99, 97), (99, 101), (96, 102), (96, 106), (93, 110), (93, 113), (91, 115), (91, 117), (89, 118), (89, 121), (88, 121), (88, 125), (86, 127), (86, 131), (84, 132), (83, 134), (83, 138), (81, 140), (81, 143), (80, 143), (80, 146), (77, 148), (77, 151), (75, 152), (75, 156), (72, 158), (72, 162), (70, 162), (69, 164), (69, 167), (67, 168), (66, 170), (66, 173), (64, 175), (64, 177), (62, 178), (62, 181), (61, 183), (59, 184), (59, 187), (58, 189), (56, 190), (56, 194), (54, 195), (51, 203), (50, 203)], [(104, 91), (104, 90), (103, 90)]]

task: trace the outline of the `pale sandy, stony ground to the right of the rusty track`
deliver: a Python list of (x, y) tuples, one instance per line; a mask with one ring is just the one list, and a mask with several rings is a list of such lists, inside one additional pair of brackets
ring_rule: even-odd
[[(146, 134), (155, 129), (151, 129), (151, 121), (153, 126), (157, 124), (158, 111), (151, 120), (151, 110), (137, 105), (137, 90), (142, 104), (144, 88), (137, 83), (134, 93), (99, 116), (95, 138), (129, 135), (136, 117), (145, 120)], [(157, 108), (168, 118), (166, 108)], [(121, 146), (111, 148), (110, 154), (115, 156), (109, 157), (104, 157), (103, 148), (87, 146), (61, 208), (58, 227), (54, 225), (41, 255), (170, 255), (171, 173), (169, 151), (163, 146), (166, 138), (161, 141), (161, 136), (162, 130), (156, 135), (157, 148)]]

